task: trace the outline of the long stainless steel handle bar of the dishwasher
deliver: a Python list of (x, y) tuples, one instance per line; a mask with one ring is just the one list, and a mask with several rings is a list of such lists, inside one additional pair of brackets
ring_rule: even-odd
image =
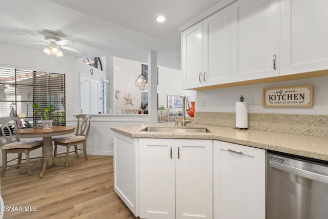
[(280, 164), (277, 162), (269, 161), (271, 167), (283, 170), (285, 172), (294, 173), (295, 175), (303, 176), (305, 178), (310, 178), (311, 180), (319, 181), (321, 183), (328, 184), (328, 176), (319, 173), (310, 172), (307, 170), (302, 170), (296, 167), (288, 166), (285, 164)]

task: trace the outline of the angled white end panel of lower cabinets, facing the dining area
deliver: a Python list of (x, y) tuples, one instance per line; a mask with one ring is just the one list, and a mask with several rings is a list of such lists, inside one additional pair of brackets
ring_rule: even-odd
[(136, 138), (114, 132), (114, 191), (138, 216)]

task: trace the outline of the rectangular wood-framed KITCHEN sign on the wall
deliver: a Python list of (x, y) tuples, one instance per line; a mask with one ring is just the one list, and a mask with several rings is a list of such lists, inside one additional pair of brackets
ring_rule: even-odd
[(263, 89), (263, 107), (312, 107), (313, 85)]

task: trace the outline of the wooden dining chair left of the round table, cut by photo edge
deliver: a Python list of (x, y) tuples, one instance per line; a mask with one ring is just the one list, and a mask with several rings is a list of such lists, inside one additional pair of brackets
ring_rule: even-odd
[[(13, 117), (13, 116), (0, 117), (0, 124), (1, 124), (0, 147), (2, 149), (2, 170), (1, 170), (2, 176), (5, 174), (7, 167), (16, 166), (16, 168), (19, 168), (19, 166), (23, 166), (20, 164), (22, 161), (22, 153), (25, 153), (26, 155), (27, 172), (29, 175), (31, 175), (30, 151), (42, 147), (43, 144), (42, 140), (20, 141), (20, 139), (17, 136), (14, 137), (15, 134), (14, 131), (17, 130), (16, 122), (18, 120), (19, 120), (18, 117)], [(17, 153), (18, 156), (10, 161), (7, 161), (7, 154), (9, 153)], [(9, 162), (14, 160), (17, 160), (16, 165), (7, 165)]]

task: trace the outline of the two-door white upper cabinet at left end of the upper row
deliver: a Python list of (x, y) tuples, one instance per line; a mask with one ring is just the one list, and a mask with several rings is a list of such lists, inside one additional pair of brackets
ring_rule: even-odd
[(183, 89), (230, 82), (230, 21), (228, 6), (183, 31)]

